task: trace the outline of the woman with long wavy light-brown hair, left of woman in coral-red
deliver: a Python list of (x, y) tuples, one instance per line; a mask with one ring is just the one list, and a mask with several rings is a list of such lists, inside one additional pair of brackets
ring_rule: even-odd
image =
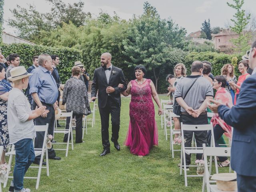
[(230, 63), (225, 64), (221, 69), (221, 75), (224, 76), (227, 80), (226, 89), (228, 92), (230, 92), (232, 97), (232, 102), (234, 104), (235, 100), (235, 88), (233, 86), (230, 86), (232, 82), (236, 84), (236, 76), (234, 75), (234, 66)]

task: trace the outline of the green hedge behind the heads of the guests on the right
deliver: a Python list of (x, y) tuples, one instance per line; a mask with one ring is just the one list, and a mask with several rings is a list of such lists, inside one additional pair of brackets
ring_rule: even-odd
[(190, 73), (190, 67), (193, 61), (199, 60), (204, 61), (207, 60), (212, 63), (212, 74), (214, 76), (220, 75), (221, 68), (224, 64), (232, 63), (235, 66), (235, 75), (236, 77), (240, 76), (241, 74), (238, 71), (238, 68), (236, 66), (236, 62), (234, 63), (232, 61), (232, 58), (236, 57), (238, 62), (242, 60), (241, 54), (224, 54), (224, 53), (217, 53), (217, 52), (190, 52), (185, 58), (184, 58), (184, 64), (186, 65), (186, 68), (188, 70), (188, 74)]

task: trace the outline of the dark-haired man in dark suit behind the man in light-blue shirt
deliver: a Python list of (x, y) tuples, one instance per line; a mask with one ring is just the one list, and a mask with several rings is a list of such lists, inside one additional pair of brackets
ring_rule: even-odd
[[(57, 87), (58, 88), (60, 87), (63, 90), (64, 86), (61, 84), (60, 74), (57, 70), (57, 66), (60, 64), (60, 58), (59, 58), (58, 55), (51, 55), (51, 58), (52, 58), (52, 66), (53, 66), (52, 76), (56, 81)], [(57, 99), (57, 101), (58, 101), (58, 105), (60, 105), (60, 91), (59, 90), (58, 90), (58, 99)], [(57, 126), (62, 127), (59, 124), (59, 120), (57, 120)]]

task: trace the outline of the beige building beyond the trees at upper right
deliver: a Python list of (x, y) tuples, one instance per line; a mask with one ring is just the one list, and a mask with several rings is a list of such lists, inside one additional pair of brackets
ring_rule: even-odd
[(232, 47), (234, 47), (230, 39), (236, 38), (238, 38), (238, 34), (232, 32), (230, 29), (221, 29), (220, 33), (212, 34), (214, 48), (221, 52), (230, 52)]

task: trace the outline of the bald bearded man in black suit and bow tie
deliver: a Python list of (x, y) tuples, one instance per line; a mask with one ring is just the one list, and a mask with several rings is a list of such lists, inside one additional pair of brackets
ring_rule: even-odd
[[(109, 114), (111, 114), (112, 137), (116, 150), (120, 150), (118, 144), (118, 132), (120, 129), (120, 93), (126, 90), (127, 84), (122, 69), (112, 66), (111, 54), (103, 53), (100, 57), (101, 67), (94, 70), (92, 79), (92, 100), (96, 99), (98, 91), (98, 107), (101, 119), (101, 136), (103, 152), (100, 156), (110, 153), (110, 142), (108, 135)], [(118, 88), (123, 84), (123, 88)]]

